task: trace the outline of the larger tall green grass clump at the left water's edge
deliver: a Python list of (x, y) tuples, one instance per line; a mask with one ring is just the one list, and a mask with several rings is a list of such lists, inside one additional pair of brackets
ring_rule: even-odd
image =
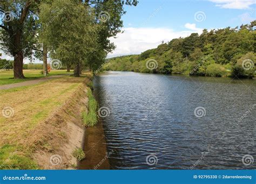
[(94, 126), (98, 122), (97, 101), (93, 97), (92, 91), (90, 88), (87, 89), (87, 97), (88, 97), (88, 110), (82, 112), (82, 118), (83, 118), (84, 125)]

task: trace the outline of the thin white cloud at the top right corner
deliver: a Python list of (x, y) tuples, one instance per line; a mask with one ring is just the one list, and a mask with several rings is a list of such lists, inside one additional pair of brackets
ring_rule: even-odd
[(256, 4), (255, 0), (210, 0), (217, 3), (216, 6), (225, 9), (248, 9), (251, 5)]

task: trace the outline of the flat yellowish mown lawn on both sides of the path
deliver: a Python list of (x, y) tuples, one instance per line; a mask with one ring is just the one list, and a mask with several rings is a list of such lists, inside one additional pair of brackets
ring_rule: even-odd
[[(39, 71), (25, 71), (26, 76), (41, 77), (37, 73)], [(58, 70), (51, 72), (51, 75), (62, 73), (66, 72)], [(8, 76), (11, 72), (6, 72), (4, 77), (1, 75), (1, 79)], [(38, 168), (32, 161), (28, 146), (33, 132), (75, 93), (84, 80), (84, 77), (64, 76), (16, 90), (0, 91), (0, 169)], [(46, 143), (41, 144), (47, 146)]]

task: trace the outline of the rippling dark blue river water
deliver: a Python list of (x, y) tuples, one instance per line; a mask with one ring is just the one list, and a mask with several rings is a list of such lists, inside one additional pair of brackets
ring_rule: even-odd
[(93, 83), (112, 169), (256, 168), (255, 80), (108, 72)]

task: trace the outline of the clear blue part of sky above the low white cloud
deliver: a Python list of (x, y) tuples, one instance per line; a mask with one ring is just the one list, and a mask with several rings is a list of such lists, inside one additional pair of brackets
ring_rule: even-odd
[[(230, 8), (222, 8), (219, 5), (225, 4), (214, 2), (218, 1), (139, 0), (139, 4), (136, 7), (125, 7), (127, 13), (123, 16), (124, 26), (168, 27), (176, 31), (183, 31), (186, 23), (196, 23), (198, 27), (206, 29), (227, 26), (235, 27), (242, 23), (248, 23), (247, 21), (242, 21), (239, 16), (244, 13), (250, 14), (250, 8), (256, 8), (256, 4), (245, 6), (246, 8), (244, 9), (238, 9), (242, 8), (240, 4), (230, 6)], [(230, 2), (235, 2), (235, 0)], [(245, 1), (242, 3), (245, 4)], [(157, 11), (156, 15), (149, 19), (157, 9), (159, 11)], [(206, 15), (206, 19), (202, 22), (197, 22), (194, 19), (194, 14), (198, 11), (203, 11)], [(256, 11), (254, 10), (254, 18), (255, 13)], [(253, 12), (251, 17), (253, 17)], [(143, 24), (147, 19), (149, 20), (146, 24)]]

